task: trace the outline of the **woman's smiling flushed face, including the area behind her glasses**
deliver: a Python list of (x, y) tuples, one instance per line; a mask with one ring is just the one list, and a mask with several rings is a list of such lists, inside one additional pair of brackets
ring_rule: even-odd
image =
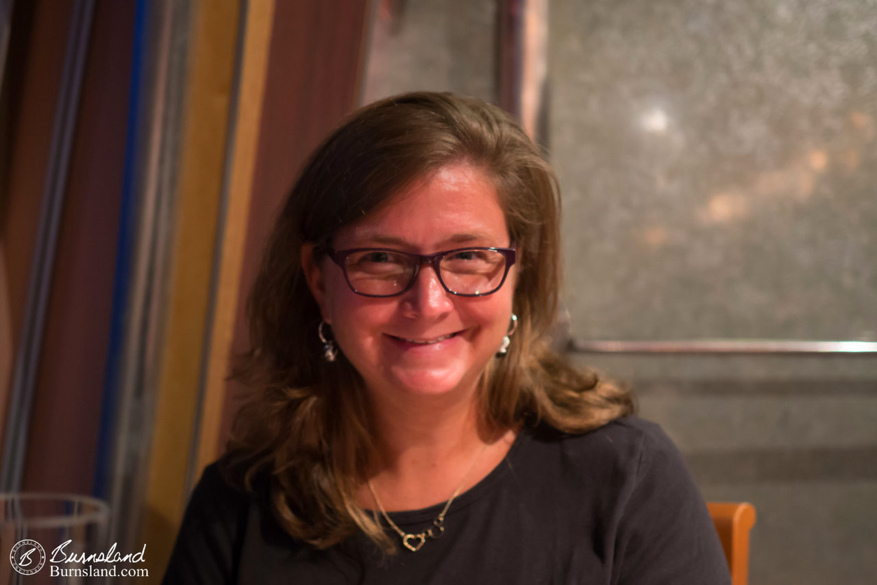
[[(375, 242), (397, 247), (367, 248)], [(514, 251), (492, 247), (510, 246), (509, 230), (484, 172), (457, 162), (418, 178), (341, 228), (332, 246), (343, 250), (332, 250), (335, 263), (317, 262), (308, 244), (302, 265), (342, 353), (369, 395), (382, 396), (373, 408), (397, 403), (398, 393), (411, 395), (409, 420), (423, 408), (413, 396), (431, 396), (435, 406), (450, 393), (441, 400), (473, 404), (509, 330), (517, 280), (506, 255)], [(419, 270), (424, 258), (431, 267)]]

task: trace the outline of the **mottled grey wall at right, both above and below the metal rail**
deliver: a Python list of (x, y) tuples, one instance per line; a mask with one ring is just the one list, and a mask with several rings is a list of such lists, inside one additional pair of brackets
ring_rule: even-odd
[[(877, 340), (877, 4), (554, 0), (551, 152), (581, 339)], [(632, 382), (751, 582), (873, 582), (877, 360), (576, 356)]]

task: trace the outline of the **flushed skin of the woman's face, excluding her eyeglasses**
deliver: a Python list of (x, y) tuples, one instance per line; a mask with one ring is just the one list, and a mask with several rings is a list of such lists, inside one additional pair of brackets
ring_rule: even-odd
[[(390, 197), (367, 217), (341, 229), (336, 250), (392, 248), (437, 253), (466, 246), (510, 247), (496, 189), (466, 164), (439, 169)], [(310, 289), (341, 351), (372, 393), (440, 395), (472, 392), (509, 329), (517, 272), (488, 296), (447, 292), (430, 265), (401, 296), (353, 292), (328, 258), (318, 266), (310, 246), (303, 266)]]

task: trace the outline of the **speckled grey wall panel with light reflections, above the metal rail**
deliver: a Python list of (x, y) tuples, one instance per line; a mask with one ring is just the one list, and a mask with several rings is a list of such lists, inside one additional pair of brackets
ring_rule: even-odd
[(877, 340), (877, 6), (565, 0), (551, 22), (577, 335)]

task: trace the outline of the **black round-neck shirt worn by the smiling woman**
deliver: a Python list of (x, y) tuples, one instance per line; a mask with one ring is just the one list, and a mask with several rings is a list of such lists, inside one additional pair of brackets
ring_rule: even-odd
[[(264, 496), (217, 464), (192, 494), (164, 583), (588, 583), (730, 585), (702, 497), (657, 424), (627, 417), (581, 435), (521, 432), (503, 462), (454, 500), (446, 532), (383, 556), (359, 533), (319, 551), (276, 524)], [(443, 505), (390, 514), (403, 531)]]

